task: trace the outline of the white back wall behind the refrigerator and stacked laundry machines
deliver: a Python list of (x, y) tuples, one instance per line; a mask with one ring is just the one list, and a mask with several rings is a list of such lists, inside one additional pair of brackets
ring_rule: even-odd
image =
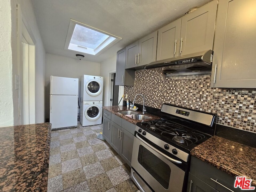
[[(74, 53), (75, 54), (75, 53)], [(45, 116), (49, 118), (50, 76), (79, 78), (82, 75), (100, 76), (100, 63), (78, 60), (64, 56), (46, 54)], [(80, 82), (79, 82), (80, 93)]]

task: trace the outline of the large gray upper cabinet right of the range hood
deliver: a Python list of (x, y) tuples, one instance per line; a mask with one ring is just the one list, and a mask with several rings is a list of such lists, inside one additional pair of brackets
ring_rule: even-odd
[(256, 88), (256, 1), (221, 0), (216, 18), (211, 86)]

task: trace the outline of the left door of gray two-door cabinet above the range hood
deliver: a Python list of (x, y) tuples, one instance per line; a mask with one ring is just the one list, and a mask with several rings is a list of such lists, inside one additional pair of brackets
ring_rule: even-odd
[(179, 56), (181, 18), (158, 30), (156, 60)]

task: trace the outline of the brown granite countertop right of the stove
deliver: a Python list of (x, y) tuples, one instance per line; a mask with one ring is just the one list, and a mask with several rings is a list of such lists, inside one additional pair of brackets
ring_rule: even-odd
[(234, 177), (246, 176), (256, 186), (256, 148), (212, 136), (190, 153)]

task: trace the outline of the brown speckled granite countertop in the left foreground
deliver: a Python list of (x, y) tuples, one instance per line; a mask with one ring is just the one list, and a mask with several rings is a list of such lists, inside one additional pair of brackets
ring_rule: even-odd
[(47, 191), (51, 124), (0, 128), (0, 191)]

